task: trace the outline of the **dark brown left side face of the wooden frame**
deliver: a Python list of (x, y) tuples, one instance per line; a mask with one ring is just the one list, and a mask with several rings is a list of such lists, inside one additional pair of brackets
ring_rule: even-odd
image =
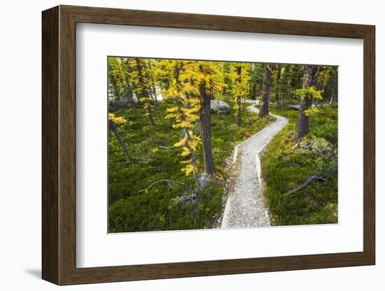
[(59, 8), (43, 13), (42, 31), (42, 271), (59, 283)]

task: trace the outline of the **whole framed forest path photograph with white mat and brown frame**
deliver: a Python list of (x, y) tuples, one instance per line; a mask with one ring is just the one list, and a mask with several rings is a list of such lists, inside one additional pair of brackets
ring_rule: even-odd
[(374, 35), (43, 11), (43, 279), (374, 264)]

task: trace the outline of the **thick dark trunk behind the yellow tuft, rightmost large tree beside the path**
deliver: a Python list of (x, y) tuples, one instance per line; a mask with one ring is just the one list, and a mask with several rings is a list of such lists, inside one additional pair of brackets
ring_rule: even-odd
[[(314, 83), (314, 66), (304, 66), (304, 78), (302, 88), (306, 89), (311, 87)], [(301, 103), (298, 113), (297, 129), (295, 132), (295, 140), (302, 139), (309, 132), (309, 116), (305, 114), (305, 111), (311, 106), (311, 97), (306, 95)]]

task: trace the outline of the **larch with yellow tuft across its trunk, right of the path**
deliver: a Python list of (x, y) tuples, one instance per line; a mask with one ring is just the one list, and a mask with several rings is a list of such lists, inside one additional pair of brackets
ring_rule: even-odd
[(313, 99), (322, 99), (321, 92), (314, 88), (316, 66), (304, 66), (302, 89), (295, 90), (295, 95), (300, 98), (295, 140), (300, 140), (309, 132), (309, 115)]

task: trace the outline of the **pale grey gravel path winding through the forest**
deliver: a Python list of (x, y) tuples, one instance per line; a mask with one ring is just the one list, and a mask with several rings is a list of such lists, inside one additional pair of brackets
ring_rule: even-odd
[[(254, 103), (254, 102), (253, 102)], [(250, 111), (258, 113), (255, 105), (248, 106)], [(260, 177), (259, 153), (267, 143), (286, 126), (287, 118), (273, 115), (276, 121), (260, 130), (234, 150), (237, 177), (234, 188), (228, 194), (221, 228), (237, 227), (268, 227), (269, 215), (262, 195), (262, 180)]]

